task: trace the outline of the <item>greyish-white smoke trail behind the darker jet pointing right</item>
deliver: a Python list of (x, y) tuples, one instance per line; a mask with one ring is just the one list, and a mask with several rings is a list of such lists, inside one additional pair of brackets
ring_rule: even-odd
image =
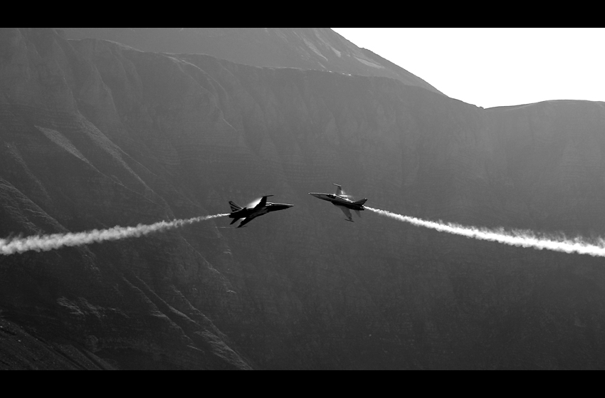
[(93, 229), (85, 232), (70, 232), (68, 234), (50, 234), (28, 236), (26, 238), (0, 239), (0, 254), (8, 256), (25, 251), (49, 251), (63, 246), (81, 246), (102, 241), (117, 241), (118, 239), (136, 238), (166, 229), (179, 228), (199, 221), (216, 219), (228, 214), (194, 217), (186, 220), (159, 221), (155, 224), (137, 226), (114, 226), (109, 229)]

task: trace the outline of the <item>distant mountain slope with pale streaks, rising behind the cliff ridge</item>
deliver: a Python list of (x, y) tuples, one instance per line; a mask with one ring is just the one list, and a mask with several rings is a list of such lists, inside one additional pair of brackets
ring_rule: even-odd
[(384, 76), (441, 91), (330, 28), (60, 28), (66, 38), (100, 38), (154, 53), (207, 54), (271, 68)]

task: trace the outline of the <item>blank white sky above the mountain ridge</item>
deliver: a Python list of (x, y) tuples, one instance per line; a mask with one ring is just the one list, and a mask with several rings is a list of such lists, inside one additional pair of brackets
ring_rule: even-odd
[(483, 108), (605, 101), (605, 28), (332, 28)]

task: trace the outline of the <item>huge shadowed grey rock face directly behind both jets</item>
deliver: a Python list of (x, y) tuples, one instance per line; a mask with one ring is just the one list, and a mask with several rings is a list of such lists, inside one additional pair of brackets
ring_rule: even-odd
[(219, 218), (1, 256), (0, 317), (35, 341), (9, 356), (0, 340), (0, 365), (41, 346), (103, 369), (601, 368), (599, 258), (370, 211), (343, 222), (307, 192), (336, 182), (423, 219), (603, 236), (604, 117), (603, 103), (483, 110), (391, 78), (4, 29), (1, 237), (263, 194), (295, 206), (243, 229)]

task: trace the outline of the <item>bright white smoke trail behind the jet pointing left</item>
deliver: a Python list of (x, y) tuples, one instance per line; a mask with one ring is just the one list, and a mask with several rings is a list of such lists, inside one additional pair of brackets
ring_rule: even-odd
[(382, 216), (390, 217), (399, 221), (405, 221), (414, 226), (424, 226), (448, 234), (466, 236), (467, 238), (480, 239), (483, 241), (493, 241), (504, 243), (510, 246), (530, 247), (537, 250), (547, 249), (552, 251), (562, 251), (563, 253), (589, 254), (590, 256), (605, 257), (605, 240), (599, 238), (596, 243), (588, 243), (580, 236), (574, 239), (552, 238), (544, 235), (536, 235), (532, 231), (512, 230), (505, 231), (503, 228), (487, 229), (477, 228), (475, 226), (463, 226), (454, 223), (443, 223), (435, 221), (426, 221), (416, 219), (416, 217), (401, 216), (401, 214), (391, 213), (372, 207), (365, 206), (366, 209), (374, 211)]

